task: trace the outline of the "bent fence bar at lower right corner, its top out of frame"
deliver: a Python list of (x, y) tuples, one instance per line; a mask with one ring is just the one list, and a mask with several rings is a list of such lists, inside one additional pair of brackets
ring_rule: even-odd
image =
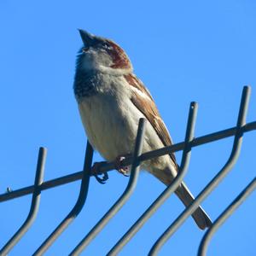
[(198, 250), (198, 256), (207, 255), (207, 247), (213, 236), (213, 234), (218, 230), (218, 228), (224, 224), (224, 221), (230, 217), (230, 215), (236, 211), (236, 208), (241, 205), (243, 201), (247, 199), (253, 190), (256, 189), (256, 177), (253, 178), (253, 181), (247, 185), (247, 187), (241, 191), (234, 201), (227, 207), (224, 212), (219, 215), (219, 217), (214, 221), (212, 227), (210, 227), (201, 240), (201, 244)]

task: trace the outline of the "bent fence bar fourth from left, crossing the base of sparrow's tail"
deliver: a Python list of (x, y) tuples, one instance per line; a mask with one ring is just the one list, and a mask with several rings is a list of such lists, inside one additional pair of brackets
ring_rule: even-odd
[(131, 240), (133, 236), (143, 227), (143, 224), (150, 218), (154, 212), (169, 198), (169, 196), (177, 189), (179, 184), (182, 182), (188, 167), (191, 154), (190, 142), (193, 140), (195, 133), (195, 119), (197, 114), (198, 105), (196, 102), (191, 102), (189, 107), (189, 118), (187, 123), (185, 143), (183, 149), (183, 157), (181, 160), (180, 170), (177, 177), (173, 180), (172, 184), (164, 190), (164, 192), (154, 201), (154, 203), (148, 207), (148, 209), (143, 213), (143, 215), (137, 219), (137, 222), (133, 224), (124, 236), (113, 246), (113, 248), (108, 252), (108, 256), (117, 255), (122, 247), (125, 246), (127, 242)]

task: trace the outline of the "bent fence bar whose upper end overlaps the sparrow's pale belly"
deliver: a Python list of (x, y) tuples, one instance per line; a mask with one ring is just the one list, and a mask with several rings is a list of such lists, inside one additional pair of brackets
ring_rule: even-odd
[(79, 245), (73, 249), (73, 252), (70, 253), (70, 255), (78, 255), (79, 253), (81, 253), (84, 247), (86, 247), (90, 243), (90, 241), (95, 238), (95, 236), (104, 228), (104, 226), (108, 224), (108, 221), (113, 218), (113, 216), (117, 212), (119, 212), (119, 209), (123, 207), (125, 202), (130, 198), (137, 184), (137, 177), (139, 174), (140, 166), (139, 156), (142, 154), (143, 151), (145, 125), (146, 119), (140, 119), (133, 154), (133, 162), (131, 166), (131, 176), (124, 193), (113, 204), (113, 207), (111, 207), (108, 212), (100, 219), (100, 221), (90, 230), (90, 232), (84, 237), (84, 239), (79, 242)]

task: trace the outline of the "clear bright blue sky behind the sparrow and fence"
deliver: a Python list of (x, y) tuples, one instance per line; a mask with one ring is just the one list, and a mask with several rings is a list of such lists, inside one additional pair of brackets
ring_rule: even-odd
[[(34, 180), (38, 148), (48, 148), (44, 180), (82, 170), (86, 137), (73, 96), (77, 28), (112, 38), (128, 53), (135, 73), (154, 96), (174, 142), (183, 141), (189, 102), (199, 102), (195, 136), (236, 125), (243, 85), (251, 84), (247, 121), (256, 119), (256, 2), (241, 1), (32, 1), (0, 3), (0, 193)], [(244, 136), (236, 167), (203, 202), (212, 220), (255, 176), (255, 132)], [(197, 195), (224, 166), (233, 139), (193, 148), (188, 175)], [(180, 160), (181, 154), (177, 154)], [(94, 160), (102, 160), (95, 154)], [(91, 178), (83, 211), (45, 255), (67, 255), (125, 189), (111, 172)], [(165, 186), (141, 173), (125, 207), (83, 255), (105, 255)], [(38, 218), (12, 255), (31, 255), (66, 217), (79, 182), (42, 193)], [(256, 255), (256, 193), (213, 237), (208, 255)], [(0, 247), (26, 218), (31, 196), (0, 204)], [(172, 195), (120, 255), (147, 255), (183, 211)], [(204, 232), (192, 218), (160, 255), (196, 255)]]

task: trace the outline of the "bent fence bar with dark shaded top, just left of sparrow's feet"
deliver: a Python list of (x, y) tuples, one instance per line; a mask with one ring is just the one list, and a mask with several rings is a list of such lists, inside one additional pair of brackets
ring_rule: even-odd
[(67, 214), (67, 217), (61, 221), (61, 224), (49, 235), (49, 237), (43, 242), (43, 244), (38, 247), (38, 250), (33, 255), (42, 255), (50, 245), (57, 239), (58, 236), (67, 228), (74, 218), (79, 215), (82, 208), (84, 207), (84, 202), (88, 194), (88, 188), (90, 183), (90, 167), (93, 157), (93, 148), (90, 143), (87, 142), (86, 152), (84, 156), (84, 171), (83, 177), (80, 185), (79, 198), (73, 209)]

